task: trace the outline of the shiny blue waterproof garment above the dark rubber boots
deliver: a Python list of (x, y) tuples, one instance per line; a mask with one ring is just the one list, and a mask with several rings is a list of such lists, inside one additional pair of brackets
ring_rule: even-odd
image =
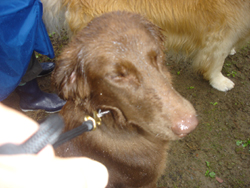
[(54, 57), (40, 0), (0, 0), (0, 101), (18, 86), (33, 51)]

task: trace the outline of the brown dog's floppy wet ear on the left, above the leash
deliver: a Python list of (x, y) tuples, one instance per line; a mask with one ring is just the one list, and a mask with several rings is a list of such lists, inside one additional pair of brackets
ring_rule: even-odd
[(81, 59), (81, 45), (67, 46), (56, 62), (52, 82), (64, 100), (84, 99), (89, 87), (84, 73), (84, 59)]

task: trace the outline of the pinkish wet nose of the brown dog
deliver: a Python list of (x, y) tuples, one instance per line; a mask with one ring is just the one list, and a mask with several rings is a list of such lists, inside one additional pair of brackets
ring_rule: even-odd
[(198, 120), (194, 115), (187, 115), (172, 126), (172, 131), (179, 137), (184, 137), (192, 132), (198, 125)]

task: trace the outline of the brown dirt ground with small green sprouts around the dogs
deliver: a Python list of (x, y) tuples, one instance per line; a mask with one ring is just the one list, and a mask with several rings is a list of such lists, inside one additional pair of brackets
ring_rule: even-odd
[[(51, 40), (56, 56), (68, 42), (66, 36), (51, 36)], [(41, 62), (49, 60), (39, 54), (37, 57)], [(222, 72), (236, 84), (226, 93), (213, 89), (193, 72), (188, 62), (170, 59), (167, 66), (176, 90), (197, 110), (199, 125), (183, 140), (171, 143), (159, 186), (250, 187), (250, 44), (225, 61)], [(42, 90), (53, 92), (50, 76), (39, 78), (38, 82)], [(15, 92), (4, 103), (20, 110)], [(42, 110), (26, 114), (35, 120), (48, 115)]]

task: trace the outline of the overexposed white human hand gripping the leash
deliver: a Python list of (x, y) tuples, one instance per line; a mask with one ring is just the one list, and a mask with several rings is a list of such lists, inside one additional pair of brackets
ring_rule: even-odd
[[(0, 145), (20, 144), (38, 130), (38, 124), (0, 103)], [(108, 172), (88, 158), (55, 157), (52, 146), (37, 155), (0, 155), (0, 187), (103, 188)]]

